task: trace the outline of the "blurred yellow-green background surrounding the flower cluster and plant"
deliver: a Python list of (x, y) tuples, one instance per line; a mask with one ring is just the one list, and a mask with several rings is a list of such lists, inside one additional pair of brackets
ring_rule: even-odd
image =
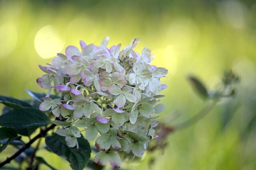
[[(36, 84), (67, 45), (79, 40), (109, 47), (141, 38), (166, 67), (168, 85), (158, 119), (168, 126), (183, 122), (204, 107), (186, 77), (199, 77), (209, 89), (232, 69), (241, 82), (234, 99), (222, 100), (204, 119), (170, 134), (164, 150), (147, 152), (124, 169), (256, 169), (256, 2), (255, 0), (0, 0), (0, 94), (30, 98), (25, 89), (45, 92)], [(0, 106), (2, 108), (2, 105)], [(174, 113), (180, 117), (169, 121)], [(14, 152), (12, 146), (0, 162)], [(38, 152), (50, 164), (68, 170), (68, 162)], [(15, 166), (16, 163), (12, 162)], [(46, 166), (42, 166), (46, 169)]]

